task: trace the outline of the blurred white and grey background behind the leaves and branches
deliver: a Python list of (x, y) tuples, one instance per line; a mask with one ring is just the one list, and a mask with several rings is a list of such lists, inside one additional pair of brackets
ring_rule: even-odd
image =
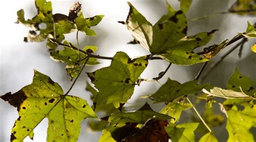
[[(74, 2), (76, 1), (52, 1), (53, 13), (64, 13), (68, 15), (69, 8)], [(164, 0), (137, 0), (130, 2), (153, 24), (166, 12)], [(226, 11), (233, 2), (233, 0), (194, 0), (191, 9), (188, 11), (188, 17), (201, 17), (214, 12)], [(87, 37), (84, 33), (79, 33), (81, 48), (85, 45), (96, 45), (98, 46), (97, 54), (110, 57), (117, 51), (124, 51), (130, 57), (149, 54), (149, 52), (143, 49), (140, 45), (126, 44), (133, 40), (133, 38), (130, 32), (127, 31), (125, 25), (117, 23), (117, 21), (125, 21), (127, 17), (129, 6), (126, 1), (91, 0), (79, 1), (79, 3), (82, 4), (82, 11), (85, 17), (105, 15), (103, 21), (92, 28), (96, 31), (97, 37)], [(172, 0), (170, 3), (173, 8), (178, 9), (179, 3), (177, 0)], [(45, 47), (45, 42), (23, 42), (23, 37), (27, 35), (29, 28), (26, 28), (22, 24), (14, 23), (17, 19), (16, 12), (19, 9), (24, 9), (25, 18), (32, 18), (36, 14), (34, 1), (17, 0), (1, 2), (0, 94), (2, 95), (6, 92), (14, 93), (23, 86), (30, 84), (33, 77), (33, 69), (50, 76), (52, 80), (59, 83), (64, 92), (66, 92), (69, 89), (71, 82), (69, 77), (66, 76), (66, 71), (64, 69), (65, 64), (54, 62), (49, 58), (49, 52)], [(212, 29), (219, 29), (208, 45), (219, 44), (224, 39), (231, 39), (237, 32), (245, 31), (247, 21), (250, 21), (252, 24), (256, 22), (255, 17), (241, 17), (234, 14), (210, 17), (198, 22), (188, 22), (188, 35), (194, 35), (203, 31), (211, 31)], [(72, 43), (76, 43), (75, 33), (66, 35), (66, 39)], [(245, 44), (245, 50), (241, 59), (237, 56), (238, 50), (234, 51), (232, 55), (218, 67), (218, 69), (215, 69), (215, 71), (212, 72), (211, 75), (214, 80), (209, 78), (206, 81), (211, 81), (213, 85), (224, 86), (235, 66), (238, 66), (241, 73), (256, 80), (256, 77), (253, 76), (253, 72), (255, 75), (256, 71), (256, 56), (253, 56), (253, 53), (249, 50), (249, 46), (254, 42), (255, 40), (250, 40)], [(225, 51), (227, 50), (221, 52), (220, 55), (223, 55)], [(102, 64), (94, 67), (86, 67), (85, 71), (91, 72), (110, 64), (110, 61), (107, 60), (99, 61), (102, 62)], [(246, 64), (250, 64), (250, 66)], [(142, 78), (153, 78), (158, 76), (158, 73), (164, 71), (167, 65), (168, 63), (165, 61), (150, 61), (149, 66), (142, 74)], [(160, 82), (165, 83), (167, 77), (170, 77), (171, 79), (184, 83), (196, 76), (200, 66), (201, 64), (190, 67), (172, 65), (171, 69)], [(90, 102), (89, 93), (85, 91), (86, 79), (87, 76), (83, 73), (70, 94), (89, 100), (89, 104), (92, 104)], [(139, 87), (136, 87), (134, 96), (129, 100), (129, 105), (136, 106), (136, 108), (142, 106), (144, 104), (143, 102), (146, 100), (142, 100), (135, 104), (133, 102), (138, 96), (153, 93), (158, 88), (159, 86), (155, 83), (142, 83)], [(161, 106), (161, 104), (158, 104), (157, 106)], [(18, 118), (18, 113), (14, 107), (5, 103), (3, 100), (0, 100), (0, 111), (0, 141), (9, 141), (11, 128)], [(44, 119), (42, 123), (36, 127), (34, 130), (34, 141), (46, 140), (47, 125), (48, 120)], [(81, 135), (78, 141), (97, 141), (99, 134), (100, 133), (87, 131), (86, 121), (83, 121)], [(31, 140), (26, 138), (24, 141)]]

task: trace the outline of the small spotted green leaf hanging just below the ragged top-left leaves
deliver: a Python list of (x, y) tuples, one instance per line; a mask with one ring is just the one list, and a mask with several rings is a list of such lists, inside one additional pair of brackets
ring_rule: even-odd
[[(67, 41), (64, 42), (66, 45), (70, 45), (71, 43), (68, 43)], [(67, 75), (70, 76), (70, 78), (76, 78), (82, 65), (86, 61), (87, 55), (83, 52), (79, 52), (75, 49), (68, 48), (66, 46), (63, 47), (64, 50), (55, 50), (50, 52), (50, 56), (53, 60), (56, 62), (63, 62), (66, 63), (66, 71)], [(86, 52), (96, 52), (97, 46), (85, 46), (83, 51)], [(89, 58), (86, 65), (96, 65), (98, 64), (96, 58)]]

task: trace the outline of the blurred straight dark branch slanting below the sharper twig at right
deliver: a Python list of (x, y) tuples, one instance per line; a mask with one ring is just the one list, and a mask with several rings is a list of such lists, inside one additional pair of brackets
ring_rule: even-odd
[(220, 57), (220, 60), (218, 62), (213, 63), (208, 71), (204, 73), (204, 75), (201, 77), (199, 82), (203, 82), (203, 80), (212, 72), (215, 67), (217, 67), (228, 55), (230, 55), (231, 52), (233, 52), (235, 49), (237, 49), (240, 45), (243, 45), (245, 42), (247, 42), (247, 38), (242, 39), (241, 42), (239, 42), (237, 45), (233, 46), (230, 50), (228, 50), (223, 56)]

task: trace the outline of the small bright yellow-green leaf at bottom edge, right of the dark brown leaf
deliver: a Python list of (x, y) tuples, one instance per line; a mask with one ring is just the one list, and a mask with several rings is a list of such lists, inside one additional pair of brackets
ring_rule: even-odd
[(199, 123), (169, 124), (165, 130), (173, 142), (195, 141), (194, 131), (197, 129), (198, 125)]

